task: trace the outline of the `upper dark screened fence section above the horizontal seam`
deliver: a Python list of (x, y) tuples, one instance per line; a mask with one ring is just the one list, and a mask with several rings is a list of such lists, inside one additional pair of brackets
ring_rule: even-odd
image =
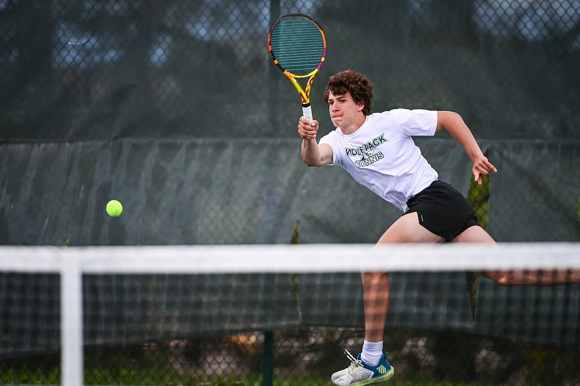
[(325, 79), (351, 67), (375, 83), (375, 111), (455, 110), (480, 139), (578, 139), (579, 8), (575, 0), (5, 0), (2, 138), (295, 137), (296, 96), (265, 46), (272, 20), (303, 12), (328, 35), (317, 116), (327, 115)]

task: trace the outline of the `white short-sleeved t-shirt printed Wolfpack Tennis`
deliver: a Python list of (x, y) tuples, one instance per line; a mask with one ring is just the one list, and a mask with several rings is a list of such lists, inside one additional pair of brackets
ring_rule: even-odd
[(353, 134), (336, 128), (320, 139), (331, 145), (333, 160), (360, 184), (399, 209), (437, 179), (411, 136), (433, 136), (437, 111), (399, 108), (367, 116)]

